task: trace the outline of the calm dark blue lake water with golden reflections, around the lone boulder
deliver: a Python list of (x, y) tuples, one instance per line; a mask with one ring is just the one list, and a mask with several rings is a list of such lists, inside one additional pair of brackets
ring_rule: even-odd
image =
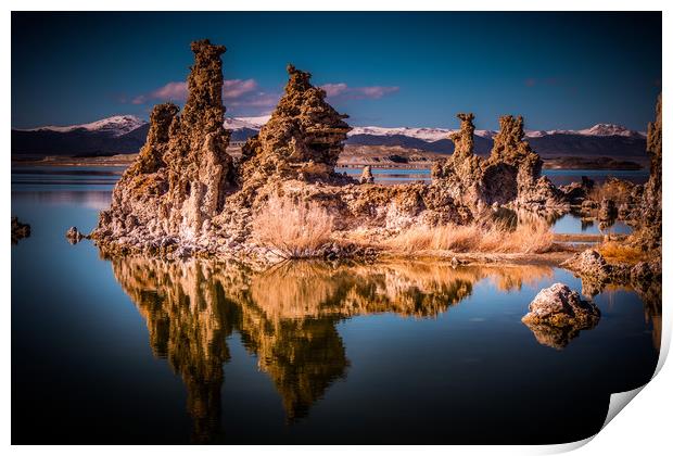
[(657, 364), (660, 302), (631, 289), (592, 330), (524, 326), (541, 288), (582, 289), (547, 266), (104, 259), (64, 233), (118, 169), (59, 170), (12, 175), (15, 444), (562, 443)]

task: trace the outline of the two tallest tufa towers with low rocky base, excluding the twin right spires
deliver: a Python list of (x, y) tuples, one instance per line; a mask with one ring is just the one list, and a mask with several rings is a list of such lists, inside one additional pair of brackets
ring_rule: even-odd
[[(192, 51), (182, 113), (172, 103), (154, 107), (148, 141), (91, 235), (106, 253), (265, 257), (267, 249), (256, 244), (253, 228), (272, 197), (296, 206), (317, 203), (334, 218), (338, 232), (471, 218), (442, 186), (360, 186), (335, 173), (351, 128), (346, 116), (325, 101), (309, 73), (292, 65), (269, 122), (234, 162), (226, 153), (229, 134), (223, 126), (225, 48), (203, 40), (192, 43)], [(334, 251), (358, 250), (342, 243), (326, 255)]]

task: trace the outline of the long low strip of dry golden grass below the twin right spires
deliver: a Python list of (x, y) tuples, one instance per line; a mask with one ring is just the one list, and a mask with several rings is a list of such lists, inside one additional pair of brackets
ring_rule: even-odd
[(545, 253), (554, 244), (554, 233), (542, 220), (519, 224), (513, 230), (497, 223), (488, 226), (444, 225), (411, 228), (386, 244), (405, 252)]

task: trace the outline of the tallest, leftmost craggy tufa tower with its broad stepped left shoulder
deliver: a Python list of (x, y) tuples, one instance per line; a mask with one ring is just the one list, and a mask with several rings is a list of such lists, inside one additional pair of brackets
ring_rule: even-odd
[(212, 235), (209, 220), (221, 211), (233, 181), (221, 98), (220, 55), (226, 49), (207, 40), (191, 49), (194, 65), (182, 114), (172, 103), (154, 107), (147, 142), (115, 186), (94, 238), (160, 248)]

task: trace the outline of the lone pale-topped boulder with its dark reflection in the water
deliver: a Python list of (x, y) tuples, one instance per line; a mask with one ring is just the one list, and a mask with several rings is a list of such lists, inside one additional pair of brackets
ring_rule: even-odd
[(562, 349), (580, 330), (594, 328), (600, 319), (600, 311), (576, 291), (563, 283), (543, 289), (529, 305), (529, 313), (521, 321), (544, 345)]

